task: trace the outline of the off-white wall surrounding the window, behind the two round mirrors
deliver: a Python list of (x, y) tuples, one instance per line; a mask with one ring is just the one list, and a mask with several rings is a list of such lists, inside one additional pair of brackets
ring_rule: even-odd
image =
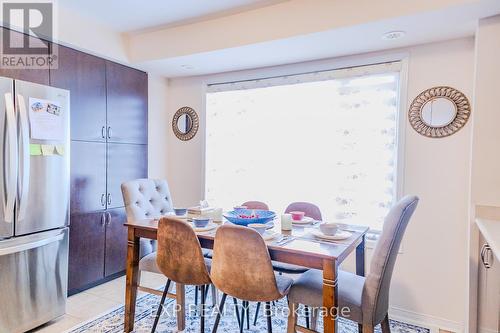
[[(203, 197), (204, 83), (331, 69), (353, 63), (409, 56), (408, 105), (422, 90), (450, 85), (469, 98), (473, 88), (474, 41), (460, 39), (383, 54), (367, 54), (259, 70), (169, 81), (171, 119), (182, 106), (200, 115), (200, 133), (191, 141), (168, 134), (167, 175), (178, 205)], [(407, 108), (406, 108), (407, 109)], [(406, 117), (406, 110), (403, 110)], [(405, 122), (407, 124), (407, 122)], [(391, 288), (391, 314), (455, 331), (463, 330), (466, 303), (471, 125), (453, 136), (429, 139), (407, 124), (404, 193), (420, 196), (420, 205), (404, 239)], [(228, 184), (231, 186), (231, 184)], [(371, 252), (368, 251), (368, 257)]]

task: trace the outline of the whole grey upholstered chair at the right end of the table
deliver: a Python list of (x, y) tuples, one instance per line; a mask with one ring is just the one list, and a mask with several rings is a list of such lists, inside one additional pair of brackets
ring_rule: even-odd
[[(373, 252), (368, 276), (362, 277), (339, 271), (338, 306), (350, 309), (347, 319), (359, 324), (363, 333), (373, 333), (374, 327), (382, 324), (382, 331), (390, 333), (389, 287), (392, 271), (403, 235), (410, 217), (418, 204), (416, 196), (406, 196), (394, 205), (385, 218), (382, 234)], [(313, 308), (323, 305), (323, 276), (318, 270), (309, 270), (294, 283), (288, 295), (291, 309), (297, 304)], [(342, 315), (342, 311), (339, 311)], [(297, 314), (290, 311), (288, 333), (295, 332)], [(315, 326), (313, 323), (313, 329)]]

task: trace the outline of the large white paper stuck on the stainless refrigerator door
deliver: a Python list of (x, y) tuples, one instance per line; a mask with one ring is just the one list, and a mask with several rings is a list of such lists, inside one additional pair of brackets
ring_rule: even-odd
[(31, 138), (39, 140), (64, 140), (62, 107), (54, 101), (29, 98)]

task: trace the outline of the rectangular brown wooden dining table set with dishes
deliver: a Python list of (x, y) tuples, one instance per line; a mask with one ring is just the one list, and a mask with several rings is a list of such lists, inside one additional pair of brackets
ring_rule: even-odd
[[(134, 330), (135, 305), (139, 275), (139, 242), (141, 238), (156, 239), (158, 219), (127, 221), (128, 232), (126, 288), (125, 288), (125, 324), (124, 331)], [(224, 221), (218, 223), (231, 223)], [(365, 274), (365, 235), (368, 227), (344, 225), (343, 230), (351, 235), (343, 240), (327, 240), (316, 237), (319, 221), (308, 224), (294, 224), (292, 230), (281, 230), (279, 219), (271, 222), (269, 230), (274, 237), (266, 240), (272, 260), (287, 264), (299, 265), (323, 272), (323, 332), (338, 332), (338, 271), (340, 264), (353, 252), (356, 259), (356, 274)], [(213, 249), (217, 227), (196, 232), (200, 245), (205, 249)], [(179, 316), (178, 316), (179, 318)], [(296, 326), (299, 332), (314, 332), (302, 326)]]

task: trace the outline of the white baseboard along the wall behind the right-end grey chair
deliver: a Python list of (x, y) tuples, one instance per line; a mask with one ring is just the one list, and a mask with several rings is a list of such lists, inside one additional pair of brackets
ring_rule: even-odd
[(430, 333), (439, 333), (439, 330), (445, 330), (456, 333), (463, 333), (463, 324), (434, 317), (427, 314), (417, 313), (404, 310), (398, 307), (391, 306), (389, 308), (389, 318), (402, 321), (404, 323), (413, 324), (430, 329)]

